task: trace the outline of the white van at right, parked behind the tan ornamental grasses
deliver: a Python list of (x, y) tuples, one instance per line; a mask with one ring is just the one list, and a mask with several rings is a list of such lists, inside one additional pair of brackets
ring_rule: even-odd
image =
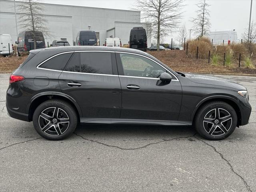
[(237, 43), (237, 32), (234, 30), (220, 30), (220, 31), (211, 31), (209, 33), (210, 40), (212, 40), (212, 45), (229, 45)]

